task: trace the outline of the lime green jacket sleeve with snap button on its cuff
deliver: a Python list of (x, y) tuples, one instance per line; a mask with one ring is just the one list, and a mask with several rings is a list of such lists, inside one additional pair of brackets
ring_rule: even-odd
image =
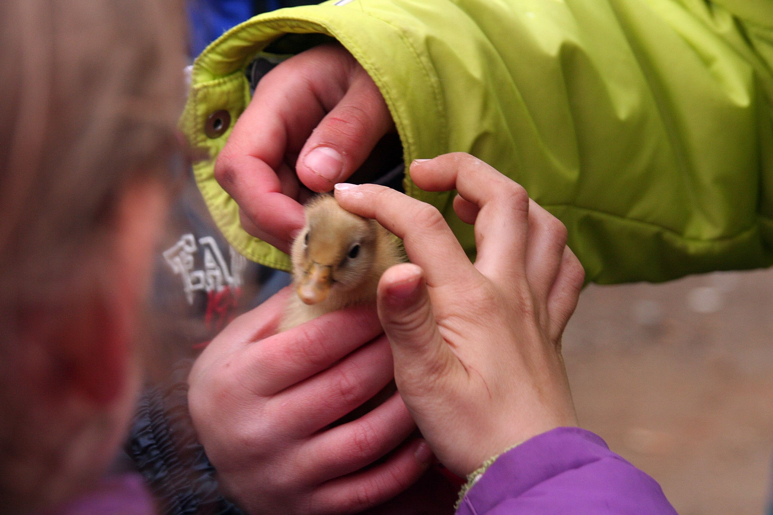
[[(240, 229), (213, 179), (258, 53), (338, 39), (379, 86), (404, 159), (465, 151), (526, 187), (569, 229), (597, 283), (662, 281), (773, 263), (771, 0), (353, 0), (282, 9), (196, 59), (182, 127), (195, 174), (240, 252), (287, 268)], [(284, 37), (282, 37), (284, 36)], [(271, 45), (271, 46), (269, 46)], [(474, 255), (451, 195), (405, 179)]]

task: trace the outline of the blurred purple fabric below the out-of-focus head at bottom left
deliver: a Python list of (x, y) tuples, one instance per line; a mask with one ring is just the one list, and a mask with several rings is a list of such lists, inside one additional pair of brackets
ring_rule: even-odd
[(152, 496), (139, 474), (104, 479), (74, 500), (37, 515), (154, 515)]

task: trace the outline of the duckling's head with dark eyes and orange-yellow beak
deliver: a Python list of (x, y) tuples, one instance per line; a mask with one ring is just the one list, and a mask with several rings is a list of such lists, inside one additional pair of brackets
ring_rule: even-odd
[(333, 296), (356, 300), (362, 296), (358, 289), (373, 282), (379, 230), (384, 229), (375, 220), (352, 215), (329, 195), (313, 199), (305, 215), (291, 252), (298, 297), (306, 304)]

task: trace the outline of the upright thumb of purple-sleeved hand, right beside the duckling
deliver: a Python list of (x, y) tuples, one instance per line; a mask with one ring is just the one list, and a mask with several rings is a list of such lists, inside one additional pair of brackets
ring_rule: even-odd
[(386, 270), (378, 287), (378, 312), (392, 344), (395, 379), (404, 388), (426, 387), (458, 363), (438, 330), (421, 267), (402, 263)]

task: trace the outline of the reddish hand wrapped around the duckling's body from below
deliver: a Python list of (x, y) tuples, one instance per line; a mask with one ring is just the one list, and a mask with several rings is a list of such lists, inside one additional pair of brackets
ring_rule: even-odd
[(326, 429), (393, 378), (375, 310), (329, 313), (274, 334), (288, 290), (233, 320), (196, 360), (188, 399), (199, 439), (227, 495), (252, 515), (383, 503), (431, 462), (423, 440), (406, 442), (415, 425), (400, 395)]

